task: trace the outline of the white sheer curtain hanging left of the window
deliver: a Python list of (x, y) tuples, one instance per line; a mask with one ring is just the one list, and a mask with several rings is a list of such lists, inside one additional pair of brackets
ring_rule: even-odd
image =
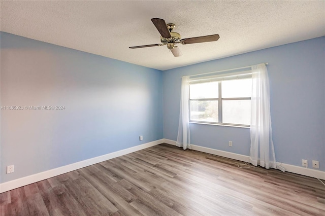
[(178, 135), (176, 146), (183, 149), (190, 149), (190, 134), (189, 134), (189, 76), (182, 77), (181, 86), (181, 104), (179, 111)]

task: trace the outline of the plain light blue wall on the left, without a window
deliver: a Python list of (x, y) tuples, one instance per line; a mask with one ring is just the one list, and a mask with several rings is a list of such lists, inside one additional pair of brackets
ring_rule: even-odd
[(66, 106), (1, 111), (1, 183), (163, 138), (162, 71), (0, 37), (1, 105)]

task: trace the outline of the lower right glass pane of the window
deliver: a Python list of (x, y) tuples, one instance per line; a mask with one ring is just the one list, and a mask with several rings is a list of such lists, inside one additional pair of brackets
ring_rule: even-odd
[(222, 100), (222, 122), (250, 125), (250, 100)]

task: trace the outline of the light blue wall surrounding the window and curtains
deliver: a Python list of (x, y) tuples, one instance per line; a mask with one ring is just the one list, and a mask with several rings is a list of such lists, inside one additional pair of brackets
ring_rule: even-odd
[[(325, 37), (164, 71), (164, 137), (177, 139), (181, 76), (262, 62), (269, 63), (277, 161), (301, 166), (307, 159), (311, 168), (318, 160), (325, 171)], [(249, 129), (190, 124), (190, 130), (194, 145), (249, 155)]]

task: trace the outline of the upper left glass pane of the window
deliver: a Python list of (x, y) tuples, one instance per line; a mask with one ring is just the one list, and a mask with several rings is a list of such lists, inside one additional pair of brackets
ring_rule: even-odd
[(218, 98), (218, 89), (218, 82), (191, 84), (189, 86), (189, 98)]

